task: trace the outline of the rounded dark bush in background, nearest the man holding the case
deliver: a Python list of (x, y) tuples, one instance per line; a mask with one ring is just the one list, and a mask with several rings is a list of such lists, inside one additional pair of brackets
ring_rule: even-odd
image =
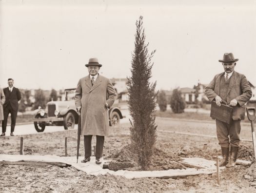
[(172, 111), (174, 113), (184, 113), (186, 102), (181, 97), (181, 92), (178, 89), (173, 90), (170, 104), (171, 104)]

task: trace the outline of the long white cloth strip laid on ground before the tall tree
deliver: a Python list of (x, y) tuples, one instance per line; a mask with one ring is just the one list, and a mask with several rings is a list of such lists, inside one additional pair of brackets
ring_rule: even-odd
[[(42, 162), (61, 162), (72, 165), (74, 168), (85, 172), (90, 175), (119, 175), (124, 176), (128, 179), (142, 178), (142, 177), (178, 177), (178, 176), (187, 176), (187, 175), (197, 175), (197, 174), (213, 174), (216, 173), (216, 166), (214, 165), (215, 161), (203, 159), (203, 158), (184, 158), (183, 162), (189, 164), (197, 163), (200, 166), (203, 166), (202, 169), (188, 168), (188, 169), (170, 169), (163, 171), (127, 171), (127, 170), (118, 170), (112, 171), (109, 169), (102, 169), (104, 160), (101, 164), (97, 165), (95, 163), (95, 157), (91, 157), (91, 161), (87, 163), (81, 163), (82, 157), (79, 157), (77, 163), (76, 156), (69, 157), (60, 157), (57, 155), (8, 155), (0, 154), (0, 161), (42, 161)], [(221, 167), (223, 169), (224, 167)]]

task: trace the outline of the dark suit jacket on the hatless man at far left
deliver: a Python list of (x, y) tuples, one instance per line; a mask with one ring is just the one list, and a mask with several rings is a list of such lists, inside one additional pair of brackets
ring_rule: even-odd
[(9, 91), (9, 87), (3, 89), (3, 93), (5, 95), (5, 102), (3, 104), (3, 109), (7, 108), (8, 105), (12, 107), (14, 111), (18, 111), (18, 101), (20, 100), (20, 90), (18, 88), (13, 87), (12, 92)]

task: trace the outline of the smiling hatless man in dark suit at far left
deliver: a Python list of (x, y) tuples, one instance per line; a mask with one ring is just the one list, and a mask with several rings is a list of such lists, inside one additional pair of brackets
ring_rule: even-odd
[(16, 117), (18, 113), (18, 101), (20, 100), (20, 91), (18, 88), (13, 86), (13, 79), (8, 79), (8, 87), (3, 89), (3, 93), (5, 95), (5, 102), (3, 104), (3, 121), (2, 121), (2, 135), (5, 135), (6, 126), (7, 126), (7, 119), (9, 114), (11, 114), (11, 136), (13, 135), (15, 124), (16, 124)]

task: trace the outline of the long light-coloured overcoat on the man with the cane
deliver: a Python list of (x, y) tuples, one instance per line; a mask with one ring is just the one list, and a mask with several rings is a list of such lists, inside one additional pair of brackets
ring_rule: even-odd
[(117, 93), (110, 79), (98, 75), (92, 86), (90, 76), (79, 79), (75, 92), (76, 107), (81, 106), (81, 135), (107, 136), (109, 130), (108, 109)]

